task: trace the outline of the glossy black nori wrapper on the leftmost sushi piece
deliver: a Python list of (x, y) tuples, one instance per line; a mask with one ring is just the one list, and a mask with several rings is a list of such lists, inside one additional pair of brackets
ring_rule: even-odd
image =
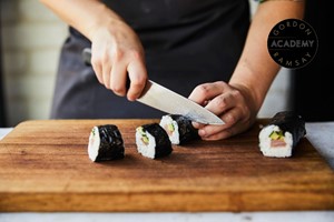
[(96, 162), (124, 159), (124, 141), (118, 128), (114, 124), (106, 124), (98, 125), (98, 130), (100, 144)]

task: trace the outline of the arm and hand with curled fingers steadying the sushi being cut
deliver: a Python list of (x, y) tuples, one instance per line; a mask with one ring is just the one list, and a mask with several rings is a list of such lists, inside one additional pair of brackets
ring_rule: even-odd
[(247, 130), (256, 119), (279, 65), (267, 51), (272, 28), (287, 18), (303, 18), (304, 2), (275, 1), (261, 3), (250, 23), (240, 59), (228, 84), (225, 82), (198, 85), (189, 99), (205, 104), (220, 117), (225, 125), (199, 125), (204, 140), (218, 140)]

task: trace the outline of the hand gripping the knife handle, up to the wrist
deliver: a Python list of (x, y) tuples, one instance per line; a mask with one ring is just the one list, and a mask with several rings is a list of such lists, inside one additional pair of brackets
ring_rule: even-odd
[(92, 31), (91, 65), (98, 81), (117, 95), (127, 95), (130, 101), (140, 97), (147, 81), (144, 49), (135, 31), (124, 21)]

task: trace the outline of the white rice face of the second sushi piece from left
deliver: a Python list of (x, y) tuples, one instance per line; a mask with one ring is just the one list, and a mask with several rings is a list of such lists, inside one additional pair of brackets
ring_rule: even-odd
[(155, 159), (156, 155), (156, 139), (148, 132), (145, 132), (148, 138), (148, 144), (141, 139), (141, 132), (136, 130), (137, 150), (146, 158)]

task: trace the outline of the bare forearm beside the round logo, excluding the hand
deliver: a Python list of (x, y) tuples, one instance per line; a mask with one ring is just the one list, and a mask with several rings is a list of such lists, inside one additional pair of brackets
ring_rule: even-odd
[(279, 71), (279, 65), (272, 59), (267, 49), (267, 38), (272, 28), (287, 18), (302, 19), (304, 3), (298, 1), (266, 1), (258, 6), (253, 18), (243, 54), (229, 81), (247, 90), (254, 101), (254, 109), (259, 110), (265, 95)]

